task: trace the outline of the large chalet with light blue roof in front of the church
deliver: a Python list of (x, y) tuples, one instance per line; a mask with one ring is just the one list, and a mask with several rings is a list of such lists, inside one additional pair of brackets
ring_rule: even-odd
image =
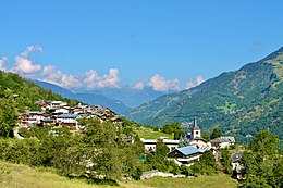
[(179, 165), (190, 166), (198, 161), (202, 152), (194, 146), (176, 148), (168, 154), (169, 159), (174, 160)]

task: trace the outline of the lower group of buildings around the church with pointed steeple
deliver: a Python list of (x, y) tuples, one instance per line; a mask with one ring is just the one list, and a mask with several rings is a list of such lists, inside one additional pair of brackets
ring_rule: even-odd
[[(181, 137), (180, 140), (172, 140), (165, 137), (160, 137), (159, 139), (140, 139), (145, 145), (145, 153), (155, 152), (156, 145), (158, 140), (162, 140), (170, 152), (168, 153), (168, 159), (173, 160), (179, 165), (190, 166), (194, 162), (199, 161), (199, 158), (204, 154), (205, 151), (210, 150), (214, 155), (216, 161), (220, 162), (221, 154), (219, 149), (230, 148), (235, 145), (234, 137), (218, 137), (210, 141), (207, 141), (201, 138), (201, 130), (195, 121), (190, 133), (186, 136)], [(239, 164), (241, 155), (235, 155), (233, 159), (233, 170), (237, 172), (235, 178), (241, 178), (239, 168), (243, 167)]]

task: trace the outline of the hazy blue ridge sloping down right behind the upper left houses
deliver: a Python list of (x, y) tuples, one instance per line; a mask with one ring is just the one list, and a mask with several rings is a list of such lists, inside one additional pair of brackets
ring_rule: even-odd
[(113, 110), (118, 114), (123, 114), (132, 110), (132, 108), (126, 106), (121, 101), (115, 99), (109, 99), (102, 95), (74, 93), (67, 89), (64, 89), (60, 86), (50, 83), (45, 83), (39, 80), (33, 80), (33, 82), (45, 89), (50, 89), (52, 90), (52, 92), (61, 95), (62, 97), (76, 99), (88, 104), (99, 104), (103, 108), (109, 108)]

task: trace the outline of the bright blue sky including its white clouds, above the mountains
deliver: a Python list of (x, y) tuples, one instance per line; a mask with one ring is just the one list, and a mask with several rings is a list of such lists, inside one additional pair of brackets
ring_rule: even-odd
[(66, 88), (180, 90), (282, 46), (281, 0), (1, 0), (0, 68)]

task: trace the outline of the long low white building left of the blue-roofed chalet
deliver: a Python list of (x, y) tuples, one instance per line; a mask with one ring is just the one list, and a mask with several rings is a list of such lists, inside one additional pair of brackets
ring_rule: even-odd
[(170, 149), (170, 151), (174, 150), (175, 148), (179, 148), (179, 140), (171, 140), (167, 137), (160, 137), (158, 139), (144, 139), (142, 138), (140, 141), (145, 145), (145, 153), (149, 153), (151, 151), (156, 151), (157, 141), (162, 140), (163, 143), (167, 145), (167, 147)]

